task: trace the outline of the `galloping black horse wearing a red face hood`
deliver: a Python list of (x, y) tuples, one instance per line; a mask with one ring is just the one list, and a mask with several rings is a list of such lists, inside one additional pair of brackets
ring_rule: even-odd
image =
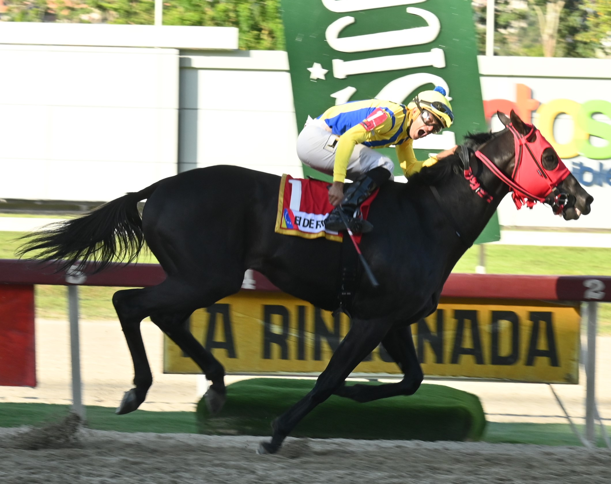
[[(510, 119), (499, 114), (505, 126)], [(511, 112), (516, 129), (527, 127)], [(509, 130), (467, 137), (505, 174), (515, 163)], [(558, 165), (554, 150), (544, 152), (546, 169)], [(369, 402), (413, 394), (423, 379), (410, 325), (431, 314), (445, 280), (475, 241), (508, 193), (508, 186), (471, 156), (472, 171), (494, 197), (477, 196), (463, 176), (463, 162), (450, 156), (414, 175), (409, 183), (386, 183), (371, 205), (375, 226), (360, 244), (379, 281), (366, 277), (357, 285), (352, 324), (301, 401), (274, 421), (273, 438), (261, 452), (276, 452), (307, 413), (332, 394)], [(62, 268), (97, 261), (102, 270), (115, 257), (133, 260), (144, 241), (167, 273), (155, 287), (116, 292), (112, 298), (134, 362), (134, 388), (117, 413), (144, 402), (152, 374), (142, 343), (140, 322), (147, 316), (201, 367), (210, 389), (208, 406), (219, 411), (225, 401), (224, 368), (189, 332), (189, 315), (240, 290), (244, 271), (254, 269), (286, 293), (315, 306), (338, 306), (337, 274), (342, 244), (304, 240), (274, 233), (280, 178), (234, 166), (214, 166), (166, 178), (136, 193), (112, 200), (82, 218), (62, 222), (32, 235), (21, 254), (38, 252), (40, 260), (63, 259)], [(433, 189), (431, 189), (431, 186)], [(558, 188), (568, 194), (565, 219), (590, 212), (593, 198), (569, 175)], [(147, 199), (142, 218), (137, 202)], [(345, 386), (346, 377), (381, 343), (404, 373), (398, 383)]]

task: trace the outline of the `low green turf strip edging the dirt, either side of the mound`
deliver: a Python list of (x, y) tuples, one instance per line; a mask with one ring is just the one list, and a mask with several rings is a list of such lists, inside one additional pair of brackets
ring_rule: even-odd
[[(87, 427), (95, 430), (153, 433), (199, 433), (194, 412), (148, 412), (136, 410), (116, 415), (114, 408), (87, 406)], [(46, 403), (0, 403), (0, 427), (40, 426), (56, 422), (68, 414), (68, 405)], [(584, 425), (577, 425), (584, 431)], [(611, 426), (607, 426), (611, 433)], [(598, 429), (597, 429), (598, 432)], [(271, 430), (267, 435), (271, 435)], [(481, 438), (493, 444), (536, 444), (541, 446), (580, 446), (568, 424), (523, 424), (488, 422)], [(604, 447), (602, 438), (599, 447)]]

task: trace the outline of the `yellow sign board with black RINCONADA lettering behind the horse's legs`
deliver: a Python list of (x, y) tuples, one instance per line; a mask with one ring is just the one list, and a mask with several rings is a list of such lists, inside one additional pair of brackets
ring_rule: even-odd
[[(412, 325), (426, 376), (579, 383), (579, 303), (442, 299)], [(348, 332), (346, 315), (282, 293), (241, 292), (191, 315), (191, 331), (228, 374), (318, 375)], [(169, 338), (164, 372), (202, 373)], [(400, 376), (382, 347), (353, 376)]]

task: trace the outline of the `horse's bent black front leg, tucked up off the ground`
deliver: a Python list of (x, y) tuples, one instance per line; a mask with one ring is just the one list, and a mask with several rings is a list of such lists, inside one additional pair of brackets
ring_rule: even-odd
[(403, 380), (375, 386), (359, 383), (344, 385), (335, 392), (335, 395), (352, 398), (356, 402), (372, 402), (397, 395), (413, 395), (419, 389), (424, 375), (414, 348), (410, 326), (391, 329), (382, 339), (382, 345), (403, 371)]

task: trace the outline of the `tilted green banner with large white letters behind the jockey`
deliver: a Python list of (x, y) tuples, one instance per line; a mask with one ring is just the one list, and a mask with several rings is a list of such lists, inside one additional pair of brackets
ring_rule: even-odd
[[(414, 142), (418, 160), (487, 130), (471, 0), (282, 0), (282, 9), (300, 131), (332, 105), (408, 103), (434, 86), (447, 91), (455, 122)], [(324, 176), (305, 165), (304, 175)], [(495, 215), (476, 243), (499, 239)]]

